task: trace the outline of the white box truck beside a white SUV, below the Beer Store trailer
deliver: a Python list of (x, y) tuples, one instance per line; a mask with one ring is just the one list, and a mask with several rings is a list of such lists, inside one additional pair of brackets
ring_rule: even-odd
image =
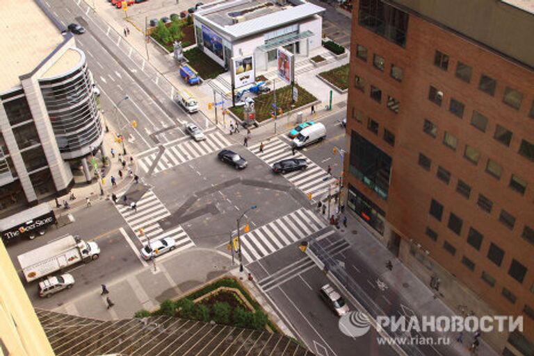
[(31, 282), (78, 262), (96, 260), (99, 254), (96, 242), (66, 235), (17, 258), (24, 278)]

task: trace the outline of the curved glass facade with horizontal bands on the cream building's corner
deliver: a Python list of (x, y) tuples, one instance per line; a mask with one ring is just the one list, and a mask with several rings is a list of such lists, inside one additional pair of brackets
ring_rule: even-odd
[(103, 138), (86, 57), (82, 51), (79, 53), (81, 60), (75, 69), (39, 80), (56, 142), (65, 159), (87, 155)]

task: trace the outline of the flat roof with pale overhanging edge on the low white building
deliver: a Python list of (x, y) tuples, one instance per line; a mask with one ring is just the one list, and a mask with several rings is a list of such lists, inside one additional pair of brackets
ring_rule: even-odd
[(294, 24), (323, 11), (321, 6), (301, 0), (223, 0), (202, 6), (195, 19), (239, 38)]

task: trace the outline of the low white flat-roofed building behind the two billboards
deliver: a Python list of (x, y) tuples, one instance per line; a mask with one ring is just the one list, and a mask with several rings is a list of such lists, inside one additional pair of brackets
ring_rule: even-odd
[(323, 11), (303, 0), (215, 1), (195, 12), (197, 46), (223, 67), (254, 55), (256, 68), (266, 70), (280, 46), (302, 56), (321, 46)]

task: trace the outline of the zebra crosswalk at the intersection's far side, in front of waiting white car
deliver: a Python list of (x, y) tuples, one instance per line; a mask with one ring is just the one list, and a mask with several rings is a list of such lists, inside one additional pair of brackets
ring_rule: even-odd
[(149, 173), (150, 167), (154, 164), (154, 160), (161, 155), (156, 163), (156, 167), (154, 167), (154, 173), (158, 173), (203, 155), (218, 151), (231, 144), (232, 143), (224, 137), (223, 133), (215, 131), (213, 133), (207, 133), (204, 141), (196, 142), (193, 139), (188, 139), (182, 142), (164, 144), (163, 147), (165, 151), (163, 151), (163, 154), (160, 154), (159, 151), (151, 150), (147, 155), (138, 155), (137, 162), (139, 167), (143, 169), (145, 173)]

